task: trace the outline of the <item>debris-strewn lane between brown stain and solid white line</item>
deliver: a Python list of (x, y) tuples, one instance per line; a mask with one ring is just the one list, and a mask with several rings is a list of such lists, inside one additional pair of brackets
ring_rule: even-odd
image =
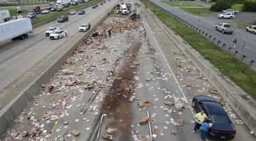
[[(184, 93), (186, 94), (186, 91), (183, 91), (180, 89), (180, 85), (177, 85), (175, 76), (173, 76), (174, 74), (169, 68), (169, 64), (165, 61), (165, 56), (162, 54), (164, 51), (161, 52), (158, 47), (159, 44), (156, 43), (153, 37), (154, 35), (162, 38), (165, 35), (159, 35), (158, 33), (151, 31), (152, 29), (150, 28), (152, 28), (152, 26), (147, 26), (148, 23), (149, 21), (144, 22), (150, 43), (149, 46), (144, 47), (146, 50), (142, 52), (141, 56), (145, 56), (145, 59), (142, 60), (143, 75), (145, 78), (152, 78), (153, 80), (148, 83), (145, 82), (145, 79), (141, 79), (141, 83), (145, 83), (147, 99), (154, 103), (150, 106), (150, 115), (151, 117), (154, 115), (152, 119), (156, 120), (156, 124), (152, 124), (152, 129), (159, 127), (164, 131), (164, 136), (158, 136), (156, 140), (169, 140), (169, 138), (172, 140), (199, 140), (199, 135), (194, 135), (192, 132), (193, 123), (191, 123), (191, 121), (194, 121), (195, 119), (193, 118), (186, 98), (184, 98)], [(151, 21), (150, 23), (153, 24), (154, 22)], [(154, 26), (154, 29), (155, 28), (156, 27)], [(160, 28), (157, 28), (156, 30), (160, 30)], [(151, 47), (156, 49), (156, 51), (152, 52), (152, 49), (150, 49)], [(145, 52), (150, 52), (156, 59), (152, 59), (150, 54), (145, 54)], [(175, 52), (175, 50), (173, 50), (173, 52)], [(151, 74), (151, 72), (153, 72), (153, 74)], [(167, 106), (162, 100), (168, 100), (173, 103), (177, 103), (177, 101), (180, 100), (184, 103), (186, 108), (182, 111), (178, 111), (175, 106)], [(169, 111), (169, 113), (167, 110), (172, 110), (172, 112)], [(174, 125), (173, 119), (183, 119), (184, 125)], [(171, 134), (173, 130), (177, 132), (176, 136)]]

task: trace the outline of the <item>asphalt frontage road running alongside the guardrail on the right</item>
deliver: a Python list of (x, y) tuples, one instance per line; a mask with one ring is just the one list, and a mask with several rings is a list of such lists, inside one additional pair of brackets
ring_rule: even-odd
[(191, 14), (188, 14), (184, 11), (182, 11), (179, 7), (171, 7), (169, 5), (166, 5), (165, 3), (161, 3), (158, 0), (150, 0), (152, 3), (162, 7), (163, 9), (167, 10), (167, 12), (171, 12), (180, 18), (186, 20), (190, 24), (193, 24), (194, 26), (199, 26), (199, 28), (202, 31), (205, 31), (205, 33), (208, 33), (209, 35), (212, 35), (212, 37), (215, 37), (216, 39), (223, 41), (223, 43), (226, 43), (227, 45), (233, 47), (233, 40), (237, 39), (237, 45), (236, 49), (240, 52), (242, 52), (242, 46), (245, 42), (245, 47), (243, 49), (243, 54), (251, 58), (252, 60), (256, 60), (255, 52), (256, 52), (256, 44), (255, 44), (255, 39), (253, 38), (253, 35), (236, 35), (233, 33), (232, 35), (223, 35), (223, 33), (215, 31), (214, 30), (214, 24), (211, 24), (203, 18), (199, 18), (197, 16), (193, 16)]

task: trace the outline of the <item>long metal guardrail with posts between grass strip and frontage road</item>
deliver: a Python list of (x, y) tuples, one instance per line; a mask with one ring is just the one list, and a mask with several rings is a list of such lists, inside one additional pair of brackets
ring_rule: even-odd
[[(152, 1), (149, 1), (149, 2), (152, 3)], [(249, 49), (248, 47), (245, 46), (245, 42), (242, 45), (242, 50), (238, 51), (236, 48), (234, 49), (230, 45), (227, 45), (227, 43), (225, 43), (224, 41), (221, 41), (220, 39), (217, 39), (216, 37), (213, 37), (210, 33), (206, 33), (202, 29), (198, 28), (197, 25), (190, 24), (186, 20), (180, 18), (179, 16), (177, 16), (175, 14), (172, 14), (171, 12), (168, 12), (167, 10), (165, 10), (162, 7), (156, 5), (155, 3), (152, 3), (152, 4), (155, 5), (156, 7), (159, 7), (160, 9), (165, 11), (170, 16), (173, 16), (176, 20), (182, 22), (183, 24), (186, 24), (188, 27), (190, 27), (193, 30), (197, 31), (197, 33), (203, 35), (203, 37), (205, 37), (206, 39), (212, 41), (213, 43), (218, 45), (218, 47), (221, 47), (221, 48), (225, 49), (225, 51), (229, 52), (229, 54), (231, 54), (232, 56), (235, 56), (239, 60), (242, 60), (242, 62), (244, 62), (244, 64), (250, 65), (251, 68), (253, 68), (253, 70), (256, 71), (256, 62), (255, 62), (255, 60), (253, 60), (252, 58), (246, 56), (246, 54), (243, 54), (244, 48)], [(251, 49), (249, 49), (249, 50), (251, 50)], [(251, 50), (251, 52), (253, 52), (253, 54), (256, 55), (256, 52), (254, 52), (253, 50)]]

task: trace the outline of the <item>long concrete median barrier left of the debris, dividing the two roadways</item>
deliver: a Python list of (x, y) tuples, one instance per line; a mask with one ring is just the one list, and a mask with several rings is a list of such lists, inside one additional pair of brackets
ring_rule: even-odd
[[(115, 5), (113, 5), (115, 7)], [(14, 123), (14, 120), (18, 115), (23, 111), (24, 108), (27, 107), (27, 104), (31, 102), (33, 96), (36, 96), (38, 92), (40, 92), (40, 87), (42, 84), (47, 83), (53, 77), (53, 75), (59, 70), (60, 66), (63, 64), (63, 61), (66, 60), (74, 50), (84, 43), (84, 39), (91, 35), (94, 32), (96, 27), (99, 24), (102, 24), (104, 20), (109, 16), (108, 11), (113, 9), (107, 9), (103, 12), (102, 15), (98, 16), (94, 21), (91, 22), (91, 29), (83, 35), (83, 37), (76, 40), (73, 45), (71, 45), (68, 49), (61, 51), (61, 55), (55, 62), (48, 64), (48, 68), (45, 69), (39, 77), (35, 78), (32, 83), (30, 83), (23, 92), (16, 95), (16, 98), (12, 100), (7, 106), (3, 107), (0, 111), (0, 134), (4, 134), (7, 129)], [(25, 72), (26, 73), (26, 72)]]

